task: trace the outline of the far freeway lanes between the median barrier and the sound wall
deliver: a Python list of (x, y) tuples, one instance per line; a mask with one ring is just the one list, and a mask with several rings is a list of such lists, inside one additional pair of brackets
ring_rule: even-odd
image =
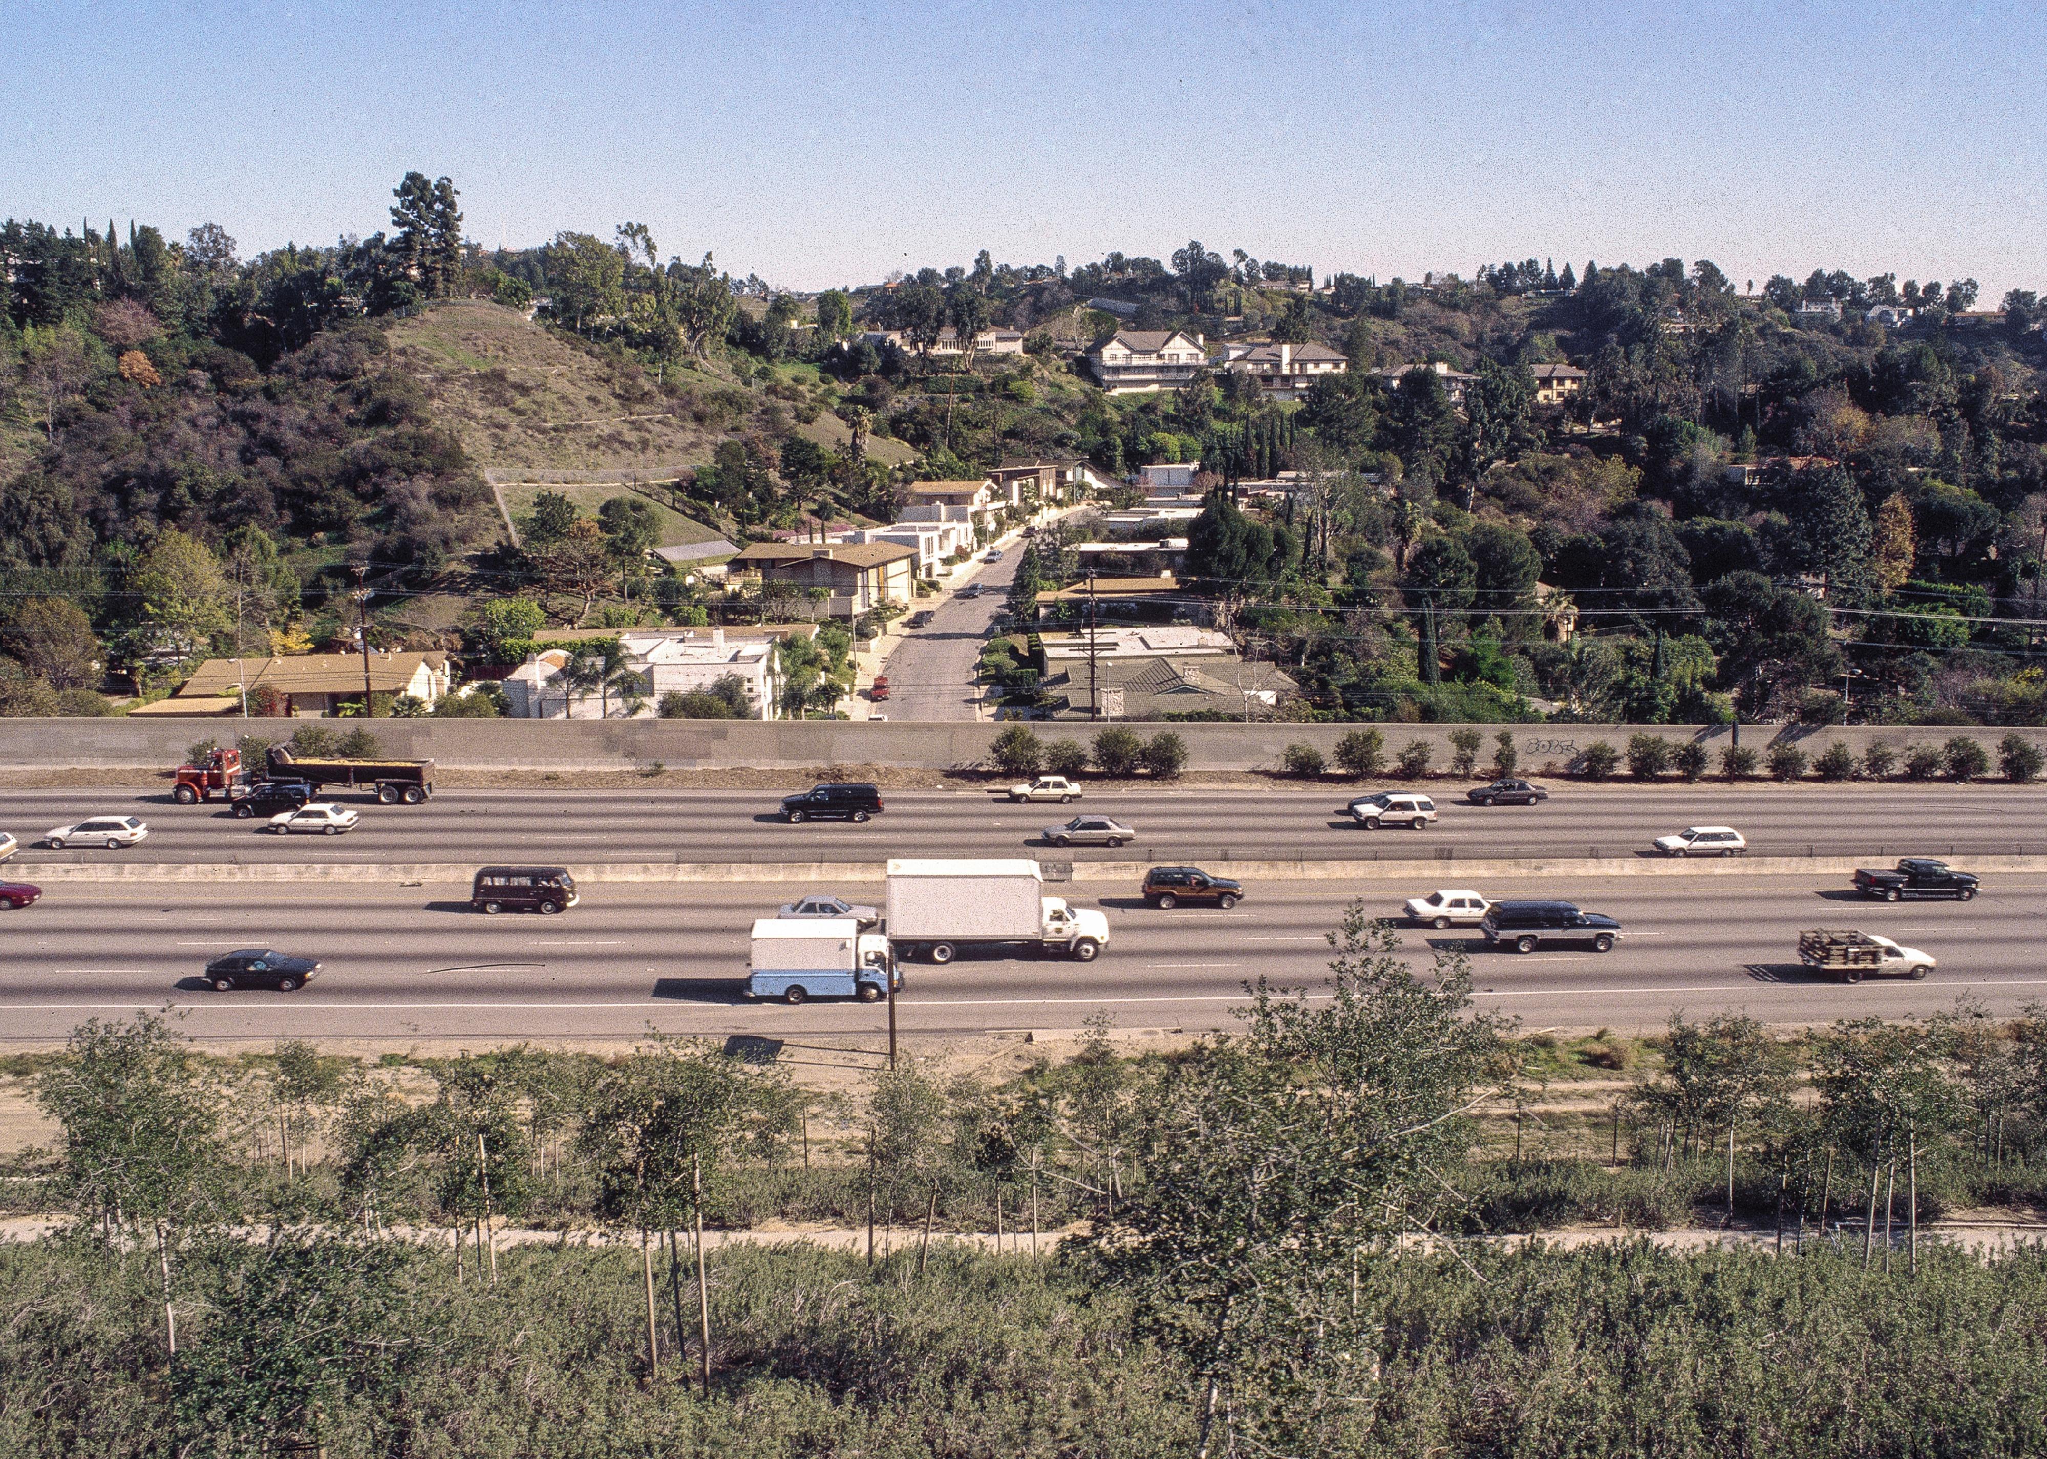
[[(794, 780), (788, 790), (802, 790)], [(1435, 788), (1441, 821), (1427, 831), (1363, 831), (1339, 814), (1355, 788), (1283, 784), (1226, 790), (1089, 788), (1073, 806), (1011, 806), (981, 786), (884, 790), (868, 825), (784, 825), (776, 790), (442, 790), (422, 806), (356, 798), (362, 823), (338, 837), (274, 837), (221, 804), (178, 806), (164, 790), (0, 790), (0, 829), (33, 878), (41, 861), (882, 861), (890, 855), (1052, 853), (1038, 831), (1077, 810), (1134, 825), (1122, 851), (1058, 857), (1412, 859), (1625, 855), (1687, 825), (1740, 829), (1756, 855), (2004, 855), (2047, 851), (2047, 786), (1554, 786), (1539, 806), (1480, 808)], [(149, 839), (129, 851), (43, 851), (49, 827), (88, 814), (137, 814)], [(1224, 851), (1228, 855), (1224, 855)]]

